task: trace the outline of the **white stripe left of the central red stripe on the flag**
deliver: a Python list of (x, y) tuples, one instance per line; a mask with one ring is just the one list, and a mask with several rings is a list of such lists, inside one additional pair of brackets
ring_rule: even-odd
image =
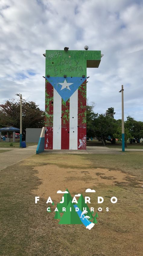
[(53, 149), (61, 149), (62, 98), (54, 89), (53, 98)]

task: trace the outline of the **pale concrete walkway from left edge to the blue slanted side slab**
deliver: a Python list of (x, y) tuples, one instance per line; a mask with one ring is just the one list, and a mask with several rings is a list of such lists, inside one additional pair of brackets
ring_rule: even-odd
[(26, 148), (0, 148), (0, 150), (10, 150), (0, 153), (0, 170), (5, 169), (7, 166), (16, 164), (31, 155), (35, 155), (36, 148), (37, 145)]

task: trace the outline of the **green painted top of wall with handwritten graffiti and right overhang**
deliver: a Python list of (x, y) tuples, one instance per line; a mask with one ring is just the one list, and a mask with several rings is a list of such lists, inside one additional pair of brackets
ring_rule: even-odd
[(87, 67), (99, 67), (101, 51), (46, 50), (46, 76), (86, 77)]

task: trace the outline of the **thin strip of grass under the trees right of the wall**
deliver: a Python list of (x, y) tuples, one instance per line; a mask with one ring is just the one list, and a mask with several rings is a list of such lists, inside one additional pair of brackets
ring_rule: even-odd
[[(87, 146), (103, 146), (102, 142), (98, 142), (98, 141), (87, 141)], [(111, 142), (107, 142), (106, 147), (108, 148), (122, 148), (122, 143), (115, 143), (115, 144), (111, 144)], [(127, 143), (127, 148), (132, 148), (132, 149), (143, 149), (143, 143)], [(126, 149), (126, 148), (125, 148)]]

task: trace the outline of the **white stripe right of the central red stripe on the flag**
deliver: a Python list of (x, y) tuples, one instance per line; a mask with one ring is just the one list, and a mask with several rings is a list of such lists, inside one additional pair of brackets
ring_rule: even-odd
[(69, 149), (78, 149), (78, 89), (70, 97)]

